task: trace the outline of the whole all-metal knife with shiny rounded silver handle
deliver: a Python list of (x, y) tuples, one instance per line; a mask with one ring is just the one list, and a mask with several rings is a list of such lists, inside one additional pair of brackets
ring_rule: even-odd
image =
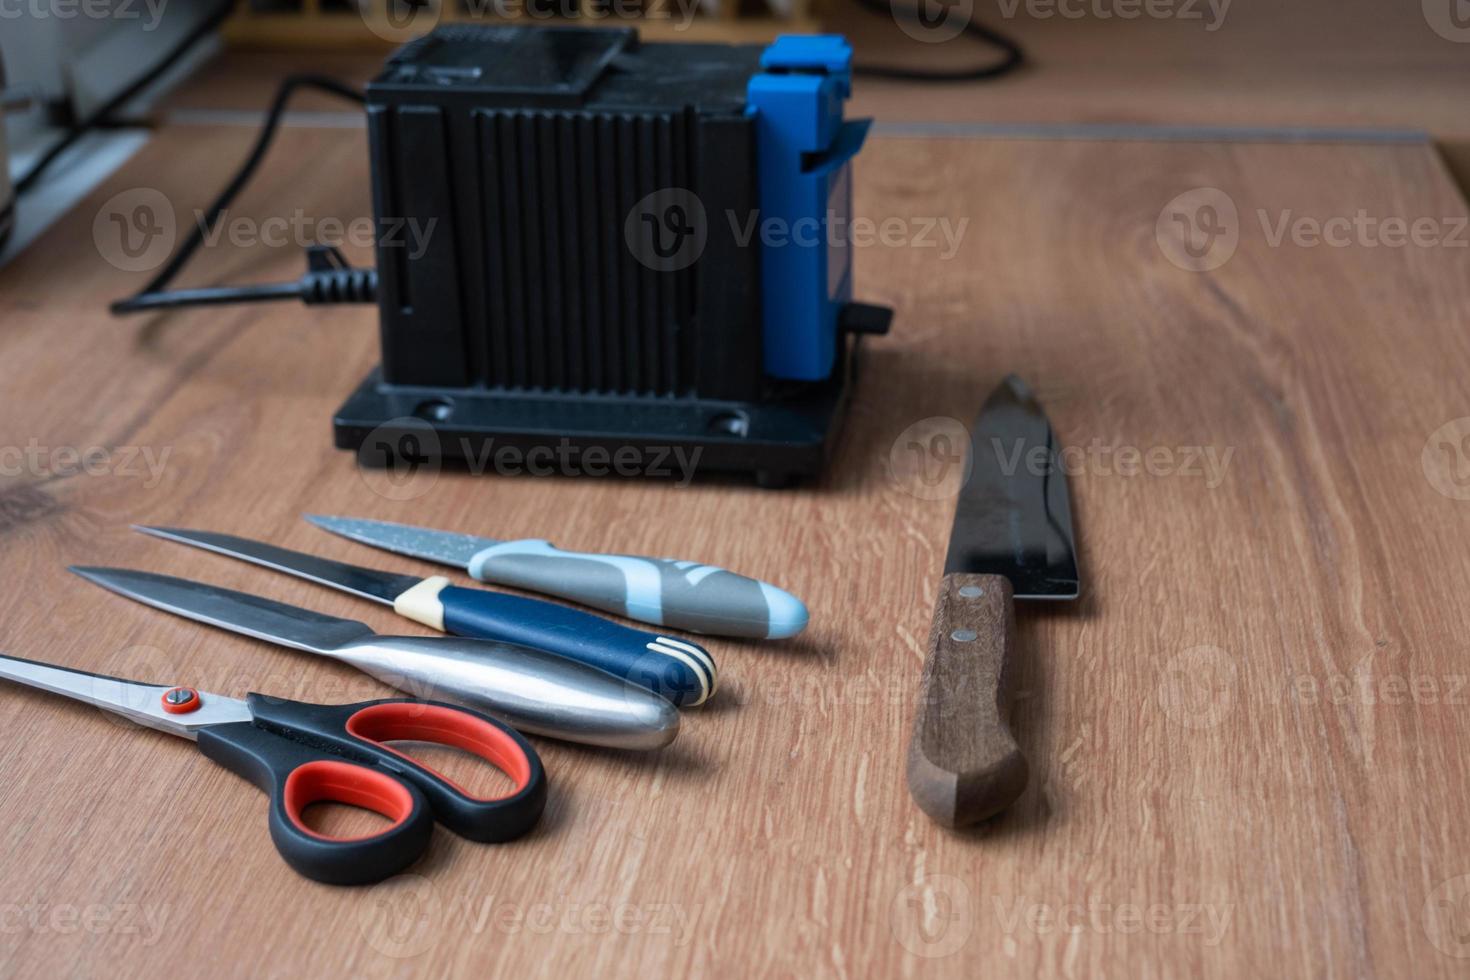
[(456, 636), (384, 636), (356, 620), (150, 572), (71, 572), (144, 605), (351, 664), (416, 698), (447, 696), (506, 724), (610, 748), (654, 749), (679, 733), (666, 699), (587, 664)]

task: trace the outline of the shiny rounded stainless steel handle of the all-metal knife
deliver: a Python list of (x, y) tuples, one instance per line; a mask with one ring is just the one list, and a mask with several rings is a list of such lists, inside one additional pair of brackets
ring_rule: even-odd
[(445, 698), (513, 729), (623, 749), (663, 748), (679, 733), (664, 698), (587, 664), (529, 646), (447, 636), (369, 636), (328, 652), (417, 698)]

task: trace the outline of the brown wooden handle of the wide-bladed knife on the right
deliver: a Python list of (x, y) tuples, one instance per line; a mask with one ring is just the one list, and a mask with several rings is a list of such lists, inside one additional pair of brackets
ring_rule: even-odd
[(908, 743), (908, 792), (947, 827), (992, 817), (1026, 789), (1026, 757), (1004, 721), (1014, 621), (1007, 579), (945, 576)]

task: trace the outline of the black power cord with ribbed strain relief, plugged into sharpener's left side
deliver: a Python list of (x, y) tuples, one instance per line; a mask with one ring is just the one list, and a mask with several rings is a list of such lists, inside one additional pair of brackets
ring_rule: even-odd
[(268, 282), (244, 287), (207, 287), (200, 289), (168, 289), (166, 287), (184, 269), (188, 260), (204, 244), (206, 235), (215, 228), (219, 219), (229, 209), (231, 203), (250, 182), (260, 162), (265, 159), (276, 131), (281, 128), (281, 118), (285, 115), (287, 103), (300, 88), (315, 88), (318, 91), (363, 104), (363, 93), (326, 78), (325, 75), (290, 75), (276, 90), (270, 109), (266, 112), (265, 125), (260, 135), (250, 148), (245, 162), (231, 178), (225, 190), (204, 212), (201, 220), (196, 222), (194, 231), (184, 239), (178, 251), (148, 281), (143, 289), (112, 304), (115, 314), (141, 313), (144, 310), (163, 310), (182, 306), (219, 306), (225, 303), (275, 303), (282, 300), (300, 300), (309, 304), (319, 303), (375, 303), (378, 298), (378, 273), (373, 269), (357, 269), (347, 264), (343, 253), (326, 245), (313, 245), (307, 250), (307, 272), (295, 282)]

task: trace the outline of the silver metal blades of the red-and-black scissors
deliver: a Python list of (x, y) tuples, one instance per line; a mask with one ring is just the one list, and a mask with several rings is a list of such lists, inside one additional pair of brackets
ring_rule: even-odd
[(197, 692), (198, 708), (188, 714), (171, 714), (163, 710), (163, 695), (178, 685), (146, 685), (87, 670), (68, 670), (21, 657), (0, 657), (0, 677), (66, 695), (75, 701), (121, 714), (150, 729), (185, 739), (198, 738), (197, 732), (210, 724), (250, 721), (253, 717), (244, 701), (203, 691)]

